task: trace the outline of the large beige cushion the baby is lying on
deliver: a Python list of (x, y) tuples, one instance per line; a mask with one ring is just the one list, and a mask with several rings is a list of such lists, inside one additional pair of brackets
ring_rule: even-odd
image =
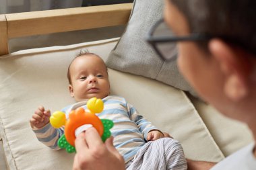
[[(10, 169), (71, 169), (74, 154), (53, 151), (38, 142), (29, 120), (38, 105), (54, 112), (74, 102), (66, 74), (80, 49), (88, 48), (105, 60), (116, 43), (114, 39), (24, 50), (0, 59), (0, 136)], [(141, 115), (179, 140), (186, 157), (204, 161), (224, 158), (183, 91), (112, 69), (109, 77), (111, 94), (125, 97)]]

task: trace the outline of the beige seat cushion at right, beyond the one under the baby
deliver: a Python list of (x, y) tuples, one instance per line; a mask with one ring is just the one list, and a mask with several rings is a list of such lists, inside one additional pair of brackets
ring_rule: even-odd
[(190, 98), (225, 157), (254, 141), (253, 134), (245, 123), (227, 118), (200, 99)]

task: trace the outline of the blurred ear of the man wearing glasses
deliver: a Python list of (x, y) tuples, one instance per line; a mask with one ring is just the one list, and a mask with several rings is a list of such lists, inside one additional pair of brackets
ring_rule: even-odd
[(247, 83), (252, 66), (245, 52), (217, 38), (210, 40), (209, 50), (220, 63), (220, 70), (224, 74), (225, 95), (232, 101), (240, 101), (246, 97), (249, 93)]

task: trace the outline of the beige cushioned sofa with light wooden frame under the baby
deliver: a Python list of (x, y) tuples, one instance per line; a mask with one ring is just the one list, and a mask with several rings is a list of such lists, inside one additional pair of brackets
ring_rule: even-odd
[[(38, 105), (53, 112), (74, 102), (66, 72), (79, 50), (88, 49), (106, 60), (119, 40), (7, 54), (8, 38), (125, 24), (131, 7), (121, 4), (0, 15), (0, 169), (71, 169), (74, 154), (52, 151), (38, 142), (30, 117)], [(95, 22), (97, 18), (104, 22)], [(141, 115), (179, 140), (187, 158), (221, 161), (253, 140), (245, 124), (225, 118), (181, 89), (113, 69), (109, 69), (109, 77), (111, 93), (125, 97)]]

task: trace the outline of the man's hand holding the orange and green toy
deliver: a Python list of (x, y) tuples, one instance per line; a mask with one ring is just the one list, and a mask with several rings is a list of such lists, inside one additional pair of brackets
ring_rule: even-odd
[(102, 142), (95, 128), (88, 128), (75, 140), (73, 170), (125, 169), (125, 161), (113, 146), (113, 136)]

